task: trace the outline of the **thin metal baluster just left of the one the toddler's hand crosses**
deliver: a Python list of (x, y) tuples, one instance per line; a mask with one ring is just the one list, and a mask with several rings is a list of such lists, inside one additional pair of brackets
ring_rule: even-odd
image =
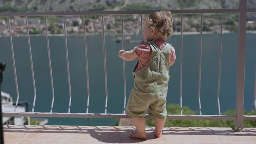
[(108, 81), (107, 81), (107, 64), (106, 64), (106, 47), (105, 47), (105, 33), (104, 33), (104, 16), (102, 15), (102, 39), (103, 39), (103, 53), (104, 53), (104, 72), (105, 72), (105, 114), (107, 113), (107, 106), (108, 106)]

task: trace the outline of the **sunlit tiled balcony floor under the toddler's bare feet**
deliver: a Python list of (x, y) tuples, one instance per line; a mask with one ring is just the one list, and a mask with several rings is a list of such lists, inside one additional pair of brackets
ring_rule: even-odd
[(155, 138), (146, 127), (146, 140), (129, 138), (134, 127), (4, 125), (5, 144), (256, 144), (256, 128), (233, 132), (231, 128), (165, 127)]

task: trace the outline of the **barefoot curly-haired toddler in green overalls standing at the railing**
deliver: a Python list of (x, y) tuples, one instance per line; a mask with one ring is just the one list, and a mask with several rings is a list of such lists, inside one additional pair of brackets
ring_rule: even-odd
[(145, 139), (144, 116), (155, 118), (155, 137), (161, 137), (166, 120), (166, 96), (168, 89), (169, 67), (176, 56), (171, 44), (165, 39), (173, 32), (173, 19), (169, 11), (156, 11), (144, 21), (144, 39), (133, 50), (120, 50), (118, 56), (126, 61), (139, 58), (135, 66), (134, 86), (125, 108), (126, 115), (133, 118), (136, 131), (130, 137)]

